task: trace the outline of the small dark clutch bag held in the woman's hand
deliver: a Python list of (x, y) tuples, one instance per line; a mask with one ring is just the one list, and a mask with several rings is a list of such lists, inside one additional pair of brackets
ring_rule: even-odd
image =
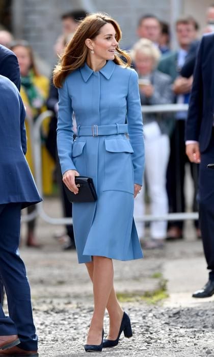
[(70, 202), (94, 202), (97, 200), (97, 194), (91, 177), (76, 176), (75, 184), (79, 189), (79, 192), (75, 195), (64, 184), (65, 192)]

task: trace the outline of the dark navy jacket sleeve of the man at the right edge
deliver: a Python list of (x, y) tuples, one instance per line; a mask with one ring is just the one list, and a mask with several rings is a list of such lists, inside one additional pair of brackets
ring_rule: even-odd
[(204, 38), (202, 38), (199, 52), (196, 58), (194, 81), (190, 96), (188, 119), (186, 121), (185, 140), (199, 141), (200, 126), (203, 110), (203, 80), (202, 80), (202, 57)]

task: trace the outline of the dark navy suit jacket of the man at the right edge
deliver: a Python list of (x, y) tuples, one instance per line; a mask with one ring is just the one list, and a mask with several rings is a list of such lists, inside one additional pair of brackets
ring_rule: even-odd
[(199, 141), (200, 151), (209, 145), (214, 110), (214, 34), (202, 37), (190, 97), (185, 140)]

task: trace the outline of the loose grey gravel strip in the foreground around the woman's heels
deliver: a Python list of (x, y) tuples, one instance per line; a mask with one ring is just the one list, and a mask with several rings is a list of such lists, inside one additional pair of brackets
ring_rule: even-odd
[[(34, 309), (40, 336), (40, 356), (84, 356), (93, 305), (67, 299), (38, 300)], [(133, 337), (103, 349), (103, 356), (214, 356), (214, 313), (206, 309), (164, 309), (124, 304)], [(108, 318), (105, 318), (105, 332)]]

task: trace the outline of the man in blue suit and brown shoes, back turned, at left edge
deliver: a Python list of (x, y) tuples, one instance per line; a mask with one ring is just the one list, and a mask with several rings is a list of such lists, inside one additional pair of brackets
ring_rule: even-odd
[[(0, 356), (38, 356), (31, 294), (18, 252), (21, 208), (41, 201), (28, 163), (25, 110), (16, 86), (0, 75), (0, 275), (9, 317), (0, 304)], [(11, 224), (12, 222), (12, 224)]]

